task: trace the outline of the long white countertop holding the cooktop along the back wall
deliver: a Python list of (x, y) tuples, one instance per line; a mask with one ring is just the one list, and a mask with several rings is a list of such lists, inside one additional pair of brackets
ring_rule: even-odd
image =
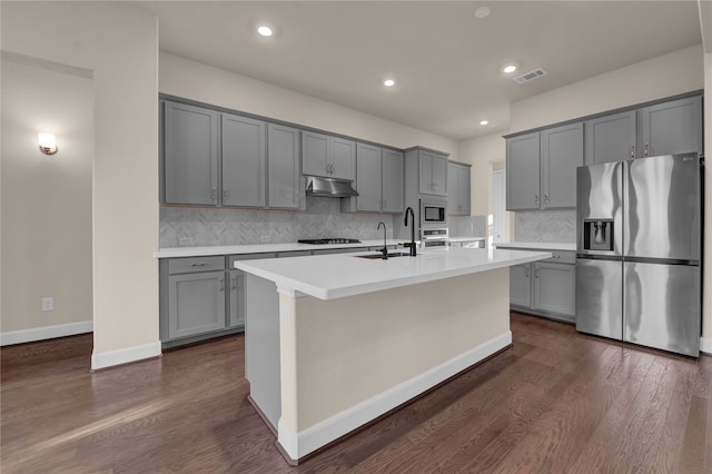
[[(386, 240), (387, 245), (397, 245), (404, 240)], [(154, 253), (154, 258), (174, 257), (207, 257), (210, 255), (243, 255), (243, 254), (269, 254), (276, 251), (318, 250), (325, 248), (360, 248), (383, 247), (383, 240), (362, 240), (360, 244), (255, 244), (255, 245), (224, 245), (207, 247), (168, 247)]]

